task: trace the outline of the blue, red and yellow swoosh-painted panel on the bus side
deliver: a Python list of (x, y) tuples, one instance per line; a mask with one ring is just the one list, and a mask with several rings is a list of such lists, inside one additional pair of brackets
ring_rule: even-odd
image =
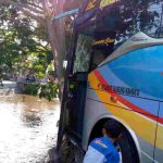
[[(155, 46), (128, 52), (89, 74), (89, 85), (98, 101), (137, 134), (142, 155), (151, 162), (156, 121), (163, 124), (163, 120), (158, 118), (159, 101), (163, 99), (162, 51), (163, 46)], [(86, 110), (90, 110), (89, 105)], [(93, 115), (93, 110), (89, 112)], [(156, 148), (162, 150), (163, 146), (156, 145)]]

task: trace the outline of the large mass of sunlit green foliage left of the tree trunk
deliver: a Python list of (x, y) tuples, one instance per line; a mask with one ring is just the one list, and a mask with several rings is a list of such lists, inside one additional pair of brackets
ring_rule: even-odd
[[(45, 28), (29, 16), (18, 14), (13, 5), (0, 8), (0, 67), (5, 73), (12, 71), (18, 74), (33, 70), (38, 78), (42, 78), (52, 60)], [(37, 61), (27, 60), (33, 55)]]

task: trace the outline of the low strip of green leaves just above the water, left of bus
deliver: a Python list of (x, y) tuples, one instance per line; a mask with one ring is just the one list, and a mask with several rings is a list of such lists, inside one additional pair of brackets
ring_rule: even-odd
[(46, 98), (51, 101), (53, 98), (59, 96), (59, 85), (49, 82), (46, 85), (41, 84), (27, 84), (24, 88), (23, 93), (39, 96), (39, 98)]

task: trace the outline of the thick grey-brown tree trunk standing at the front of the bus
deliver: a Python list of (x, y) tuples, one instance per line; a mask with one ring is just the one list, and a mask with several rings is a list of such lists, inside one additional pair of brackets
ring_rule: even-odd
[[(57, 7), (54, 11), (55, 15), (63, 12), (63, 4), (64, 0), (54, 1), (54, 5)], [(46, 2), (43, 3), (43, 9), (47, 11)], [(54, 59), (54, 68), (58, 78), (61, 80), (64, 76), (63, 61), (65, 60), (66, 54), (64, 20), (62, 18), (52, 22), (51, 15), (47, 14), (46, 24)]]

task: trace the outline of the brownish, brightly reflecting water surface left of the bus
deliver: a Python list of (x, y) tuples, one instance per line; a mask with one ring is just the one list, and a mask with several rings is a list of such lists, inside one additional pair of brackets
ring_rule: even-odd
[(59, 102), (0, 96), (0, 163), (43, 163), (55, 145)]

